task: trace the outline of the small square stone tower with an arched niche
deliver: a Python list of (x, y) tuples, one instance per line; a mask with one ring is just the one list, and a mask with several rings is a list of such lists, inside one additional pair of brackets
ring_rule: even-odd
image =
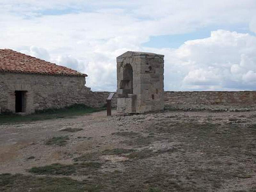
[(117, 112), (164, 109), (164, 55), (128, 51), (117, 61)]

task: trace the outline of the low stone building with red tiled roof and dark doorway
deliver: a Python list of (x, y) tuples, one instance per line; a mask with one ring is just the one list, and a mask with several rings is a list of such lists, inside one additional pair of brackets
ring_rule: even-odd
[(104, 105), (108, 93), (92, 92), (85, 86), (86, 76), (26, 54), (0, 49), (0, 113), (29, 114), (76, 103)]

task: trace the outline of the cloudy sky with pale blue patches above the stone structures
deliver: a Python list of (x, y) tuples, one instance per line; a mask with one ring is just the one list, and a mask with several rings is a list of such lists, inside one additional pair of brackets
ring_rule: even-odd
[(169, 91), (256, 90), (256, 0), (0, 0), (0, 48), (116, 90), (116, 57), (164, 54)]

